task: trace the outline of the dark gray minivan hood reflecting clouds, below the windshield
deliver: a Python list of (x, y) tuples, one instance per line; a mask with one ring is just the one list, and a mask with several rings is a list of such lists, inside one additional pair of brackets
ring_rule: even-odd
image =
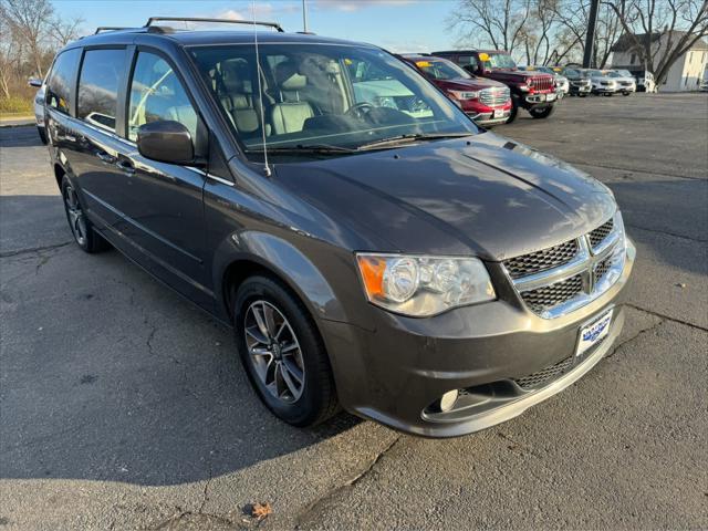
[(357, 250), (503, 260), (589, 232), (616, 208), (589, 175), (491, 133), (274, 169), (330, 219), (391, 242)]

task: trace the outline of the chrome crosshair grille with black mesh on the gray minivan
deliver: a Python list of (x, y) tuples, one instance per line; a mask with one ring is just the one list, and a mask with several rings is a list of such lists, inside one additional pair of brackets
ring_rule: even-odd
[(506, 260), (521, 300), (543, 319), (574, 311), (622, 277), (626, 251), (620, 212), (580, 238)]

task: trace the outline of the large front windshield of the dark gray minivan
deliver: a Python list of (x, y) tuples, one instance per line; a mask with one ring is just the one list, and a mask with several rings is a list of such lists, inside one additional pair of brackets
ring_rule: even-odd
[(263, 136), (273, 152), (346, 153), (403, 136), (478, 132), (421, 75), (378, 49), (260, 44), (262, 97), (252, 44), (190, 53), (247, 153), (262, 152)]

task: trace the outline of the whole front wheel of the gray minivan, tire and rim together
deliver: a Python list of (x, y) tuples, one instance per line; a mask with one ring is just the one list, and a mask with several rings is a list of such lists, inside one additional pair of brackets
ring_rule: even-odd
[(339, 408), (330, 361), (300, 300), (281, 282), (256, 275), (233, 302), (233, 330), (253, 389), (280, 419), (317, 425)]

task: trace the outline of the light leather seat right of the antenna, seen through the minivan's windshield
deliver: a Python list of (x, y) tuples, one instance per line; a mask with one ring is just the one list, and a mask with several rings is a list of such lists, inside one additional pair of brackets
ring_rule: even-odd
[(308, 77), (298, 73), (293, 62), (285, 61), (275, 67), (277, 102), (270, 110), (273, 134), (298, 133), (305, 121), (314, 116), (312, 105), (300, 98), (308, 85)]

